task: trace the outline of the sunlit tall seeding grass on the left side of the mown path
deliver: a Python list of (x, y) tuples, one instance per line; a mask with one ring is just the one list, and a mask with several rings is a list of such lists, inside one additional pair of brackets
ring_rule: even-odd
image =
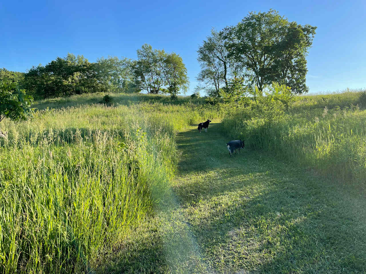
[(1, 273), (92, 269), (169, 198), (176, 131), (218, 115), (190, 103), (79, 103), (1, 122)]

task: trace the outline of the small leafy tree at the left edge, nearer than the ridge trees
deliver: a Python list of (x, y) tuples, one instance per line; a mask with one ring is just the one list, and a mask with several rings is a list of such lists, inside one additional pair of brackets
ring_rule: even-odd
[[(30, 107), (32, 102), (33, 96), (20, 90), (18, 83), (6, 77), (0, 79), (0, 122), (5, 117), (14, 121), (27, 119), (34, 111)], [(4, 136), (1, 130), (0, 136)]]

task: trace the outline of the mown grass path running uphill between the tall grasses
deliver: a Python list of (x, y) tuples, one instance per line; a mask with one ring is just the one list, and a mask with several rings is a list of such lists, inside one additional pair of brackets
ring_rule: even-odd
[(219, 123), (178, 134), (172, 203), (116, 247), (115, 273), (365, 273), (365, 195), (244, 149)]

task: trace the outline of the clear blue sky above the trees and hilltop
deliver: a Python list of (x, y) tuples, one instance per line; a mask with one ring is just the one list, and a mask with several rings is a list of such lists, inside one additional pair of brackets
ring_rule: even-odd
[(136, 58), (144, 43), (180, 54), (191, 94), (197, 49), (210, 34), (250, 11), (276, 9), (290, 21), (317, 26), (307, 57), (310, 92), (366, 88), (366, 1), (1, 1), (0, 67), (26, 72), (68, 52), (90, 62)]

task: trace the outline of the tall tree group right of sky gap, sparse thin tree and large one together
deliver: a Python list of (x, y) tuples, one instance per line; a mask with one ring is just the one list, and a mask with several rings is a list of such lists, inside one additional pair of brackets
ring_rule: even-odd
[[(197, 80), (214, 87), (219, 95), (228, 88), (228, 75), (245, 79), (259, 91), (273, 82), (284, 84), (294, 93), (309, 91), (306, 86), (306, 56), (316, 27), (280, 16), (275, 10), (250, 12), (236, 26), (219, 33), (212, 31), (198, 49), (201, 72)], [(228, 91), (228, 90), (227, 90)]]

